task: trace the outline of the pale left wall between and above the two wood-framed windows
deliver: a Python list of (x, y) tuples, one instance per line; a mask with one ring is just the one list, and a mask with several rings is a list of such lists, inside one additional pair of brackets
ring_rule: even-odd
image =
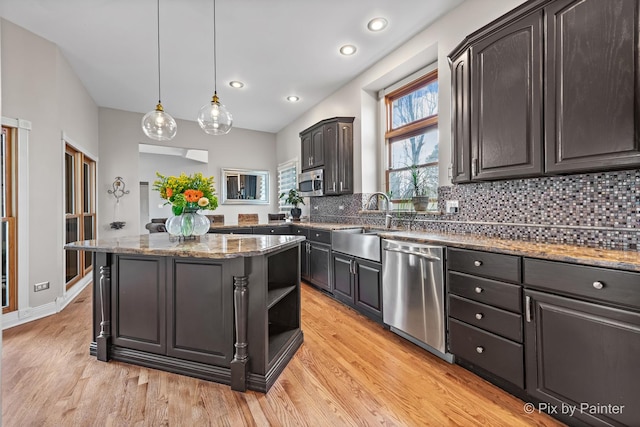
[[(2, 115), (32, 124), (29, 239), (18, 236), (18, 244), (27, 245), (29, 254), (29, 283), (18, 279), (21, 288), (28, 288), (22, 289), (27, 298), (18, 301), (21, 316), (28, 317), (32, 308), (66, 294), (61, 135), (65, 132), (83, 148), (98, 153), (98, 108), (51, 42), (2, 20), (1, 52)], [(33, 284), (45, 281), (50, 288), (34, 293)]]

